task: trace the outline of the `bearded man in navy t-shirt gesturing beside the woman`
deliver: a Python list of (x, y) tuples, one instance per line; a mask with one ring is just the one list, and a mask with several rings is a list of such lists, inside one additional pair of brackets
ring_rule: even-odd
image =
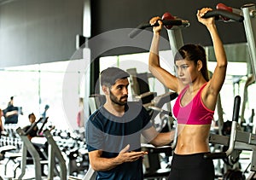
[(127, 102), (129, 74), (117, 67), (101, 73), (106, 103), (90, 115), (86, 143), (91, 167), (97, 179), (143, 179), (140, 137), (154, 146), (172, 142), (174, 132), (158, 133), (146, 109), (138, 102)]

